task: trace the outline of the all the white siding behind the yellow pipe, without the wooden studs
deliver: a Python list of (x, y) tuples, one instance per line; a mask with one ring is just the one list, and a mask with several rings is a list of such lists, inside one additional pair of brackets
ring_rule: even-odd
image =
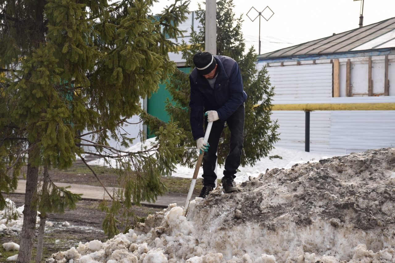
[[(263, 67), (258, 64), (258, 69)], [(273, 104), (380, 103), (395, 96), (332, 98), (332, 64), (268, 67), (275, 86)], [(274, 111), (280, 141), (277, 146), (305, 149), (305, 112)], [(316, 111), (310, 113), (310, 151), (334, 154), (395, 147), (394, 111)]]

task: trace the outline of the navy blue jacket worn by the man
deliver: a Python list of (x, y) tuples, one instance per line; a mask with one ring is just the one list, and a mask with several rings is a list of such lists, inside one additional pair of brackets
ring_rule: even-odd
[(204, 112), (216, 110), (218, 117), (226, 121), (247, 99), (239, 65), (227, 56), (214, 56), (217, 62), (217, 78), (214, 89), (196, 67), (189, 75), (191, 86), (189, 106), (190, 124), (194, 139), (204, 137)]

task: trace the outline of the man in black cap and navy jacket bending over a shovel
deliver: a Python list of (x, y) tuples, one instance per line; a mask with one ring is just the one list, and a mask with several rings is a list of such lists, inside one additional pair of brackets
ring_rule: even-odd
[[(195, 68), (189, 80), (190, 124), (200, 153), (203, 151), (203, 189), (199, 197), (205, 198), (215, 187), (217, 148), (222, 130), (227, 123), (231, 132), (230, 151), (225, 161), (222, 186), (225, 192), (236, 192), (233, 180), (239, 168), (243, 150), (244, 102), (247, 94), (239, 65), (227, 56), (213, 56), (209, 52), (198, 52), (193, 58)], [(205, 112), (206, 118), (203, 116)], [(213, 121), (208, 143), (203, 140), (203, 118), (205, 127)]]

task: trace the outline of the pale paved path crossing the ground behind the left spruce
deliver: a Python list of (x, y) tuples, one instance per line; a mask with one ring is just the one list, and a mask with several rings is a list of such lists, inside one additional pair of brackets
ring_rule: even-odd
[[(66, 184), (66, 183), (55, 183), (58, 187), (70, 186), (69, 190), (74, 194), (83, 194), (83, 199), (89, 200), (109, 200), (110, 197), (105, 193), (102, 187), (91, 186), (91, 185), (77, 185), (77, 184)], [(26, 180), (18, 180), (18, 187), (15, 190), (17, 194), (24, 194), (26, 190)], [(111, 189), (107, 189), (111, 194)], [(185, 205), (187, 194), (178, 193), (167, 193), (163, 196), (158, 196), (158, 200), (155, 203), (141, 202), (142, 205), (152, 207), (164, 207), (166, 208), (171, 203), (177, 203), (177, 205)], [(191, 200), (194, 200), (197, 195), (192, 195)]]

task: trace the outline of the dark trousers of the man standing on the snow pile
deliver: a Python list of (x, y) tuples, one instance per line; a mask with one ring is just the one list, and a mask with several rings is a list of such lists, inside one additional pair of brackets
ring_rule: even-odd
[[(243, 151), (243, 132), (244, 132), (244, 103), (226, 120), (230, 130), (230, 151), (225, 160), (224, 177), (234, 179), (237, 168), (240, 166), (241, 152)], [(207, 118), (205, 127), (207, 127)], [(215, 166), (217, 161), (218, 143), (222, 131), (225, 127), (225, 121), (218, 120), (213, 122), (209, 136), (209, 150), (203, 155), (203, 184), (204, 186), (215, 187)]]

